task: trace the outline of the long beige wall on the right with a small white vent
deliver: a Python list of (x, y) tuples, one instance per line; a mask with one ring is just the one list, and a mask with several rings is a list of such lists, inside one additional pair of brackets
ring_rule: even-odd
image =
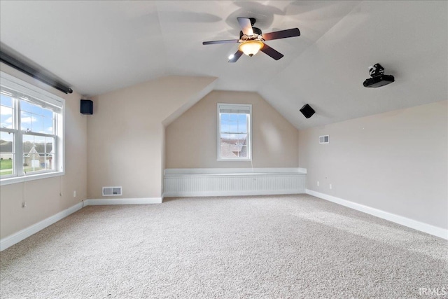
[(448, 228), (447, 112), (444, 101), (300, 130), (307, 188)]

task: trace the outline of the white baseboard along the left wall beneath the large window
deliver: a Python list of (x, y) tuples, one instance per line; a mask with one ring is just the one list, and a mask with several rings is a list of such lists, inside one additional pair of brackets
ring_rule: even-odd
[(8, 237), (4, 237), (3, 239), (0, 239), (0, 251), (3, 251), (7, 249), (10, 246), (13, 246), (14, 244), (22, 241), (23, 239), (26, 239), (27, 237), (30, 237), (31, 235), (34, 235), (36, 232), (43, 230), (44, 228), (52, 225), (53, 223), (56, 223), (57, 221), (61, 220), (62, 218), (65, 218), (66, 216), (69, 216), (70, 214), (73, 214), (74, 212), (80, 210), (83, 208), (83, 203), (79, 202), (78, 204), (75, 204), (73, 207), (69, 207), (69, 209), (64, 209), (64, 211), (59, 211), (59, 213), (50, 216), (43, 221), (39, 221), (36, 224), (33, 224), (27, 228), (24, 228), (23, 230), (20, 230), (19, 232), (16, 232), (13, 235), (10, 235)]

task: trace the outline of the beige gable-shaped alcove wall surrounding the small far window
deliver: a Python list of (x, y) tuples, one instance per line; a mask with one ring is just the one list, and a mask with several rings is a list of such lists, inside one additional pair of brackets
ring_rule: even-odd
[[(297, 129), (256, 92), (213, 91), (166, 127), (167, 168), (239, 168), (216, 160), (218, 103), (252, 104), (253, 167), (297, 167)], [(297, 111), (298, 113), (298, 111)]]

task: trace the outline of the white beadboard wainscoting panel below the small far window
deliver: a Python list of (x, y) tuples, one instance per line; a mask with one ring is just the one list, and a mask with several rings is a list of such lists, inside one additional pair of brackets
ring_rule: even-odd
[(164, 178), (165, 197), (269, 195), (305, 193), (306, 172), (275, 169), (275, 172), (229, 173), (221, 169), (207, 169), (200, 174), (197, 169), (175, 172), (167, 169)]

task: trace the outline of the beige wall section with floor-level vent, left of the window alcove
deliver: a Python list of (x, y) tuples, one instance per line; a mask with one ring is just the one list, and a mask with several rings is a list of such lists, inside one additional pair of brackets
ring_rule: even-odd
[(124, 198), (161, 197), (164, 125), (210, 92), (215, 80), (168, 76), (92, 98), (88, 197), (103, 198), (103, 186), (123, 186)]

